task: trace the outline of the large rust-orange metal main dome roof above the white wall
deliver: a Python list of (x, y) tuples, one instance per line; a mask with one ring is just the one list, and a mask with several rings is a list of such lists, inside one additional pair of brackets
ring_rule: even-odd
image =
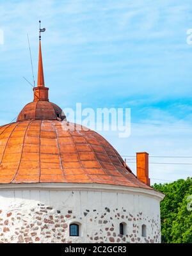
[(75, 182), (150, 188), (115, 148), (80, 125), (24, 120), (0, 127), (0, 183)]

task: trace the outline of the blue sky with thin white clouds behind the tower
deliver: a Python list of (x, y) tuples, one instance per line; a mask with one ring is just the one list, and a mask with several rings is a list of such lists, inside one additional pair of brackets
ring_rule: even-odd
[[(0, 1), (0, 124), (9, 123), (33, 93), (27, 33), (35, 68), (38, 20), (45, 84), (61, 108), (131, 108), (131, 136), (102, 132), (127, 156), (192, 156), (191, 1)], [(135, 172), (134, 157), (129, 166)], [(150, 158), (192, 163), (192, 158)], [(191, 176), (192, 165), (150, 164), (152, 182)], [(157, 179), (157, 180), (155, 180)], [(162, 180), (161, 180), (162, 179)], [(163, 181), (164, 180), (164, 181)]]

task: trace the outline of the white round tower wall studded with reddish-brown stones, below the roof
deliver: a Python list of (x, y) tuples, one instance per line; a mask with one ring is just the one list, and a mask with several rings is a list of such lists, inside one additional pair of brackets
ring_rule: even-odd
[[(0, 186), (0, 243), (161, 243), (160, 193), (73, 186)], [(70, 223), (79, 224), (79, 237), (69, 236)], [(146, 237), (141, 236), (143, 224)]]

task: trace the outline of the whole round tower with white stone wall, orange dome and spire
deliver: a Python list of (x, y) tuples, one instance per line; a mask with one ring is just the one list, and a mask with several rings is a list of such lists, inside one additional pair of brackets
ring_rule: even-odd
[(41, 42), (33, 91), (0, 127), (0, 243), (161, 243), (163, 195), (49, 102)]

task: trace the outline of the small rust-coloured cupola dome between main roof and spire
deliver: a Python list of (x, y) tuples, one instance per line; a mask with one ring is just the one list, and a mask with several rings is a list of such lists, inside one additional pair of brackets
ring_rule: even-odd
[(29, 119), (64, 120), (62, 109), (49, 101), (30, 102), (20, 111), (17, 121)]

